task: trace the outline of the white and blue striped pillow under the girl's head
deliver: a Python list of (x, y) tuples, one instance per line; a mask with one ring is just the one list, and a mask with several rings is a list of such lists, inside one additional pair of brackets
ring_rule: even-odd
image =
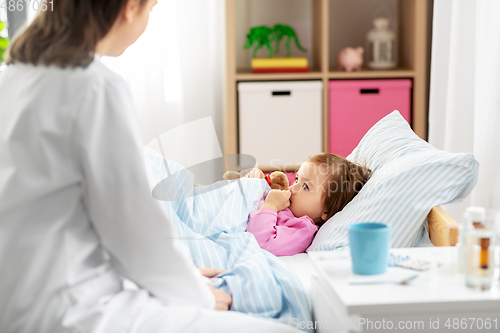
[(472, 154), (448, 153), (420, 139), (398, 111), (375, 124), (347, 159), (370, 168), (372, 177), (307, 251), (347, 246), (347, 226), (357, 222), (391, 225), (392, 247), (419, 246), (431, 208), (465, 198), (479, 165)]

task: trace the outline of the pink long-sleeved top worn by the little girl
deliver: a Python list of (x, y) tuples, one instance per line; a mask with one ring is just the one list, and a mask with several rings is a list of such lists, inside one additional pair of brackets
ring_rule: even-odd
[(291, 256), (304, 252), (311, 245), (318, 226), (309, 216), (295, 217), (285, 208), (279, 212), (260, 209), (250, 213), (247, 231), (257, 239), (260, 247), (276, 256)]

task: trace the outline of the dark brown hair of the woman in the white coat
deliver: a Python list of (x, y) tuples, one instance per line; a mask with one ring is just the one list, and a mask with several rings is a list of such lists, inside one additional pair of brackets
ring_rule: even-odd
[[(140, 0), (144, 5), (148, 0)], [(127, 0), (57, 0), (14, 38), (6, 63), (86, 67)]]

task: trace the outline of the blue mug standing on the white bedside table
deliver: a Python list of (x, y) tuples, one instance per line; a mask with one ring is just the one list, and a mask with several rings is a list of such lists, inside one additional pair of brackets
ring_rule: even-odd
[(349, 245), (354, 273), (385, 273), (391, 247), (391, 227), (382, 223), (352, 224), (349, 226)]

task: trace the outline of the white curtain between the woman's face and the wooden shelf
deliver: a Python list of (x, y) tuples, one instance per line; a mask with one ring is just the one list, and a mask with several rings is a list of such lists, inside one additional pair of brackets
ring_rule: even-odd
[[(165, 136), (169, 140), (162, 141), (165, 154), (171, 151), (167, 158), (186, 167), (194, 163), (190, 163), (193, 158), (189, 159), (189, 155), (198, 155), (200, 149), (205, 155), (207, 149), (211, 151), (213, 158), (220, 156), (224, 17), (224, 0), (159, 0), (137, 42), (122, 56), (103, 59), (129, 85), (144, 144), (169, 132)], [(207, 117), (211, 117), (212, 128), (194, 133), (186, 131), (196, 126), (179, 130), (179, 126)], [(182, 133), (184, 138), (176, 136), (177, 140), (171, 140), (171, 134), (175, 133)], [(188, 136), (196, 136), (196, 140), (186, 140)], [(179, 149), (183, 144), (187, 146)], [(183, 152), (185, 156), (175, 152)], [(223, 170), (214, 168), (207, 173), (221, 176)]]

